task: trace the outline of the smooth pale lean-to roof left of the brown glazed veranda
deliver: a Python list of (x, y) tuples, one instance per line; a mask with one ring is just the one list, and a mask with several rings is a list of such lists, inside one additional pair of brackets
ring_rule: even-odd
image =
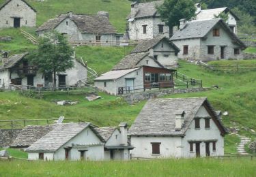
[(121, 78), (122, 76), (125, 76), (126, 74), (131, 73), (132, 71), (136, 71), (137, 68), (132, 68), (132, 69), (122, 69), (122, 70), (113, 70), (113, 71), (109, 71), (106, 72), (104, 74), (102, 74), (100, 77), (94, 79), (94, 80), (116, 80), (118, 78)]

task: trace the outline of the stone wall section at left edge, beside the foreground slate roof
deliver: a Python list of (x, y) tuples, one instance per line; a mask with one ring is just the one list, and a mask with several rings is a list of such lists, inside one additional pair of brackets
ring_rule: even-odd
[(10, 146), (22, 129), (0, 129), (0, 147)]

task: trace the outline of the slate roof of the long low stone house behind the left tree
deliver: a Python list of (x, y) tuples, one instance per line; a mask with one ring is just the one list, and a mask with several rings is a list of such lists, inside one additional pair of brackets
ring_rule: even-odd
[(61, 14), (44, 22), (36, 31), (48, 31), (55, 29), (63, 20), (70, 18), (74, 21), (81, 33), (117, 33), (106, 16), (84, 15), (84, 14)]

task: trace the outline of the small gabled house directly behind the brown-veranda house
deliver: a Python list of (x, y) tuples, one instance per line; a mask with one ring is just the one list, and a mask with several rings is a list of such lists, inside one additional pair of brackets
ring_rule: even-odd
[(169, 38), (155, 37), (141, 40), (131, 53), (149, 53), (149, 57), (154, 57), (164, 67), (175, 68), (178, 52), (180, 49)]

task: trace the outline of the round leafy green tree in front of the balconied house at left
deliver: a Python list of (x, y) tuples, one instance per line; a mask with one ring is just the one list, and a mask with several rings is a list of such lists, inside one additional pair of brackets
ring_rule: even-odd
[(68, 44), (63, 35), (51, 31), (44, 37), (40, 37), (38, 50), (29, 57), (39, 71), (51, 74), (53, 77), (53, 88), (56, 86), (56, 74), (66, 71), (74, 66), (72, 54), (74, 50)]

